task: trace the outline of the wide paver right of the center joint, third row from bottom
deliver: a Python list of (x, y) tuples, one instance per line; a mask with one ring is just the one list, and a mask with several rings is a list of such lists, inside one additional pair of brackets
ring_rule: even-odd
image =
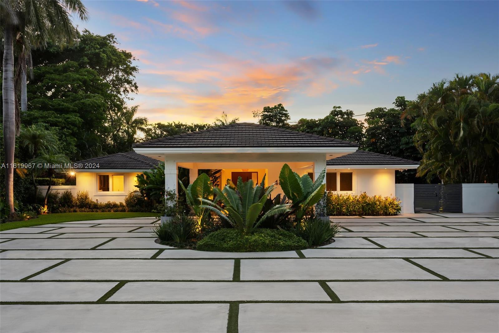
[(403, 259), (242, 259), (241, 280), (435, 279)]

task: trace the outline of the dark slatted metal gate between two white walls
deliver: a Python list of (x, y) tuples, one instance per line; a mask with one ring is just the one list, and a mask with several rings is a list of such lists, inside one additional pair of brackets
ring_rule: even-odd
[(461, 184), (414, 184), (414, 212), (463, 212)]

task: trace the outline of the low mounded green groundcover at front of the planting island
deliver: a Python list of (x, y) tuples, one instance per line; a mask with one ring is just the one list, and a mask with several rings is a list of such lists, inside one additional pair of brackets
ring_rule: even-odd
[(303, 249), (307, 243), (293, 233), (279, 229), (256, 229), (243, 235), (237, 229), (220, 229), (198, 242), (201, 251), (265, 252)]

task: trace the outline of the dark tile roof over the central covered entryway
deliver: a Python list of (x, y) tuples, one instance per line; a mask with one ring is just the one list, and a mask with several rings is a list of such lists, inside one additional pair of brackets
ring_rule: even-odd
[(358, 143), (251, 122), (135, 143), (141, 148), (191, 147), (357, 147)]

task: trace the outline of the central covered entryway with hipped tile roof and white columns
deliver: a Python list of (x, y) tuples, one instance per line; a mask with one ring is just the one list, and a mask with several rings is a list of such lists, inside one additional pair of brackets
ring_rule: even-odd
[[(199, 169), (221, 169), (221, 186), (233, 176), (266, 174), (265, 184), (277, 183), (284, 163), (300, 175), (326, 168), (326, 160), (357, 150), (354, 142), (289, 129), (240, 122), (197, 132), (136, 143), (140, 154), (165, 161), (165, 188), (178, 188), (178, 167), (190, 170), (191, 182)], [(325, 182), (325, 179), (324, 179)], [(275, 193), (280, 191), (278, 186)]]

